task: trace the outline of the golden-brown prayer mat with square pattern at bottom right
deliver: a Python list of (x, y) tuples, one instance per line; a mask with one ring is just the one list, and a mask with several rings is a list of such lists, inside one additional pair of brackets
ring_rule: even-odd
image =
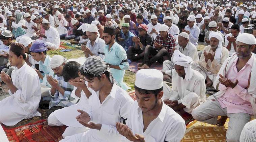
[(225, 127), (197, 126), (184, 135), (181, 142), (226, 142)]

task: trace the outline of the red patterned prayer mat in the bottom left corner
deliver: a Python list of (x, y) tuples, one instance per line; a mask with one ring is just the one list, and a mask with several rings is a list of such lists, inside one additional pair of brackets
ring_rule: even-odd
[(60, 141), (66, 126), (48, 126), (47, 120), (39, 120), (24, 126), (9, 128), (2, 125), (11, 142), (55, 142)]

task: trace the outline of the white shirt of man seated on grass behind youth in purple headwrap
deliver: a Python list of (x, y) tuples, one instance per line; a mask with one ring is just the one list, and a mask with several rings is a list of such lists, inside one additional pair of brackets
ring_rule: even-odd
[(55, 46), (58, 48), (60, 46), (60, 35), (54, 27), (50, 26), (48, 30), (45, 30), (45, 36), (47, 38), (43, 38), (46, 42), (50, 42), (55, 44)]

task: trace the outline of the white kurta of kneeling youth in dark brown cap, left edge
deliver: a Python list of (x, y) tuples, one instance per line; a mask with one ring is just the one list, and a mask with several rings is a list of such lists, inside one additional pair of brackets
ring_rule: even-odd
[(14, 126), (22, 119), (41, 116), (36, 110), (41, 99), (40, 81), (36, 71), (26, 63), (11, 73), (13, 85), (18, 90), (0, 101), (0, 121)]

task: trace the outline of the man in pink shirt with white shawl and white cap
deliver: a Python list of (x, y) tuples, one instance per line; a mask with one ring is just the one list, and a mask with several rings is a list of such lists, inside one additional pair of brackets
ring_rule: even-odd
[[(201, 122), (216, 125), (218, 116), (229, 118), (226, 140), (239, 142), (241, 131), (255, 114), (256, 57), (252, 54), (256, 39), (243, 33), (236, 39), (236, 55), (228, 58), (221, 67), (214, 87), (216, 94), (193, 110), (192, 116)], [(225, 122), (224, 122), (225, 123)]]

